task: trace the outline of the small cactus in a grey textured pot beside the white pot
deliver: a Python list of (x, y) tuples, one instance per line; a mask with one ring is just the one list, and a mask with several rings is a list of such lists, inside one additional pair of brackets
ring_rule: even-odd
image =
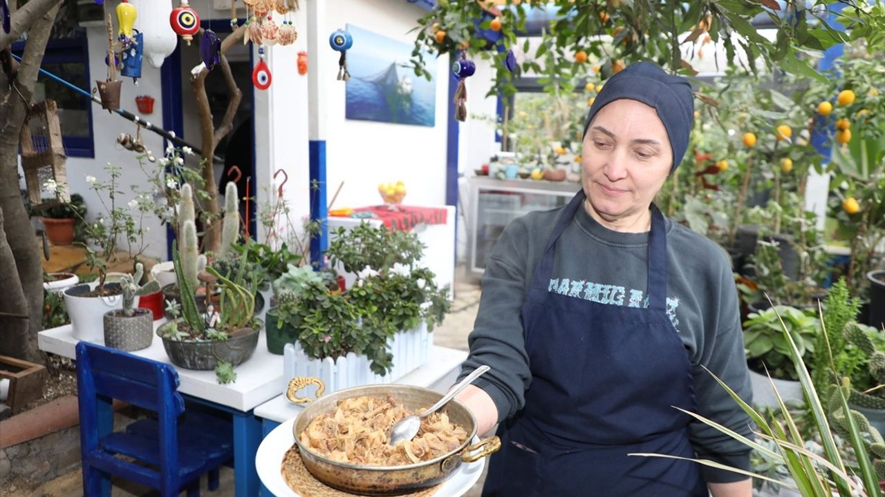
[(139, 285), (144, 268), (141, 263), (135, 264), (135, 275), (127, 274), (121, 278), (123, 290), (123, 309), (109, 310), (104, 313), (104, 345), (120, 350), (141, 350), (150, 347), (153, 340), (154, 319), (147, 309), (135, 308), (135, 296), (158, 292), (159, 284), (150, 281)]

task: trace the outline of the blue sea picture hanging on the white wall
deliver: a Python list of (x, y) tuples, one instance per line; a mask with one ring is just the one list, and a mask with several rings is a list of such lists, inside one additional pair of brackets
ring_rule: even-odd
[(433, 79), (404, 67), (412, 45), (349, 24), (353, 47), (347, 50), (347, 103), (344, 117), (417, 126), (435, 126), (436, 74), (433, 57), (427, 69)]

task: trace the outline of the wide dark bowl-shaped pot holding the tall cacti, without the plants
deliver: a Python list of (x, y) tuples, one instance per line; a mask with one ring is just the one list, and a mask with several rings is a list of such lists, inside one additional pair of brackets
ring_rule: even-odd
[(256, 328), (243, 328), (232, 333), (233, 336), (224, 341), (219, 340), (169, 340), (163, 336), (165, 323), (157, 329), (158, 336), (163, 340), (163, 348), (169, 360), (176, 366), (189, 370), (213, 370), (219, 361), (243, 363), (252, 356), (258, 346), (258, 332), (264, 327), (261, 323)]

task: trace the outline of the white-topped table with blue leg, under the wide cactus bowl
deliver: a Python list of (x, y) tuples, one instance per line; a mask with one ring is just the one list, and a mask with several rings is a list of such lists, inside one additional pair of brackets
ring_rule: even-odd
[[(154, 321), (154, 329), (165, 320)], [(75, 358), (74, 347), (79, 339), (73, 336), (71, 325), (59, 326), (37, 335), (38, 347), (46, 352)], [(104, 343), (99, 343), (104, 345)], [(131, 352), (160, 363), (172, 364), (163, 348), (163, 340), (154, 335), (149, 348)], [(173, 365), (174, 367), (174, 365)], [(175, 367), (181, 385), (178, 391), (197, 401), (208, 403), (216, 409), (229, 412), (234, 420), (234, 475), (237, 497), (258, 495), (258, 472), (255, 454), (261, 443), (261, 422), (252, 409), (262, 402), (280, 394), (282, 382), (282, 356), (267, 351), (265, 333), (258, 333), (258, 346), (245, 362), (235, 366), (235, 383), (219, 385), (215, 371), (194, 371)]]

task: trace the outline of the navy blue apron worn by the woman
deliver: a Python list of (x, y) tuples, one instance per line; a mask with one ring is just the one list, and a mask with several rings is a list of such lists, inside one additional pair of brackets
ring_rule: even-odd
[[(691, 366), (666, 313), (666, 227), (651, 206), (647, 308), (549, 292), (554, 246), (583, 191), (559, 217), (522, 306), (532, 371), (526, 407), (501, 424), (482, 490), (491, 496), (706, 497), (694, 457)], [(604, 299), (600, 299), (604, 300)]]

